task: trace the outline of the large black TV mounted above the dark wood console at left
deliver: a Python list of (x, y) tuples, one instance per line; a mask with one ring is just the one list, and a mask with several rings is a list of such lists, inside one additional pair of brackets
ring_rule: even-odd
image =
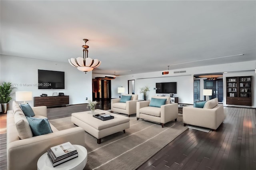
[(38, 70), (38, 89), (65, 89), (64, 72)]

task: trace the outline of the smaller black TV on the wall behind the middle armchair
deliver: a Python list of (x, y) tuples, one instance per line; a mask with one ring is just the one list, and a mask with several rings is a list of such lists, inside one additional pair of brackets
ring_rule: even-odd
[(156, 93), (177, 93), (177, 82), (156, 83)]

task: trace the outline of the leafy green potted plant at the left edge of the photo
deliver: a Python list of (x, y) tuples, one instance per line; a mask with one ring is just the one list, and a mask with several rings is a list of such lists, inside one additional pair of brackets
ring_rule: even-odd
[(14, 87), (12, 87), (12, 83), (1, 83), (0, 86), (0, 103), (2, 107), (2, 112), (7, 113), (9, 109), (9, 101), (12, 100), (11, 93)]

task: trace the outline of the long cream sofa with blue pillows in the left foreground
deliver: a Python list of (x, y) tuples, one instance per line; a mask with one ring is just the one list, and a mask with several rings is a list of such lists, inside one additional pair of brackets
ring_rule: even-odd
[[(84, 130), (80, 127), (57, 130), (52, 124), (52, 133), (28, 137), (26, 117), (16, 102), (13, 110), (7, 112), (7, 166), (8, 170), (36, 170), (42, 154), (58, 144), (70, 142), (84, 146)], [(47, 117), (46, 106), (32, 107), (36, 118)], [(16, 119), (14, 121), (14, 119)], [(19, 129), (17, 129), (18, 127)], [(19, 131), (19, 132), (18, 132)], [(22, 133), (21, 133), (22, 132)], [(20, 137), (24, 139), (20, 139)]]

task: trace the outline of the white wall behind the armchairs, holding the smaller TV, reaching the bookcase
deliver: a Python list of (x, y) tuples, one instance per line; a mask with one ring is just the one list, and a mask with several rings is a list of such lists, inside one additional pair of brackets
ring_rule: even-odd
[[(158, 82), (177, 82), (177, 94), (174, 97), (179, 97), (179, 103), (193, 104), (194, 102), (194, 78), (192, 74), (207, 74), (207, 73), (224, 73), (223, 74), (223, 83), (224, 83), (224, 99), (223, 105), (226, 106), (226, 77), (232, 76), (246, 76), (252, 75), (253, 78), (253, 95), (252, 95), (252, 107), (256, 107), (255, 96), (256, 96), (256, 83), (254, 79), (256, 74), (254, 69), (256, 67), (256, 61), (245, 61), (239, 63), (228, 63), (220, 65), (209, 65), (203, 67), (192, 67), (184, 68), (178, 70), (169, 70), (168, 75), (162, 75), (162, 71), (156, 71), (151, 73), (140, 73), (140, 74), (131, 74), (117, 76), (115, 80), (111, 82), (111, 97), (118, 98), (119, 94), (117, 93), (118, 87), (125, 87), (125, 93), (128, 93), (128, 80), (135, 80), (135, 94), (138, 94), (138, 99), (143, 99), (143, 94), (140, 94), (140, 88), (148, 85), (150, 91), (147, 93), (147, 99), (150, 99), (152, 96), (157, 95), (156, 91), (153, 89)], [(186, 73), (174, 73), (174, 71), (186, 71)], [(202, 87), (204, 87), (203, 79), (200, 79), (200, 99), (204, 99), (202, 95)], [(235, 105), (234, 105), (235, 106)], [(237, 106), (237, 105), (236, 105)], [(244, 106), (243, 106), (244, 107)]]

